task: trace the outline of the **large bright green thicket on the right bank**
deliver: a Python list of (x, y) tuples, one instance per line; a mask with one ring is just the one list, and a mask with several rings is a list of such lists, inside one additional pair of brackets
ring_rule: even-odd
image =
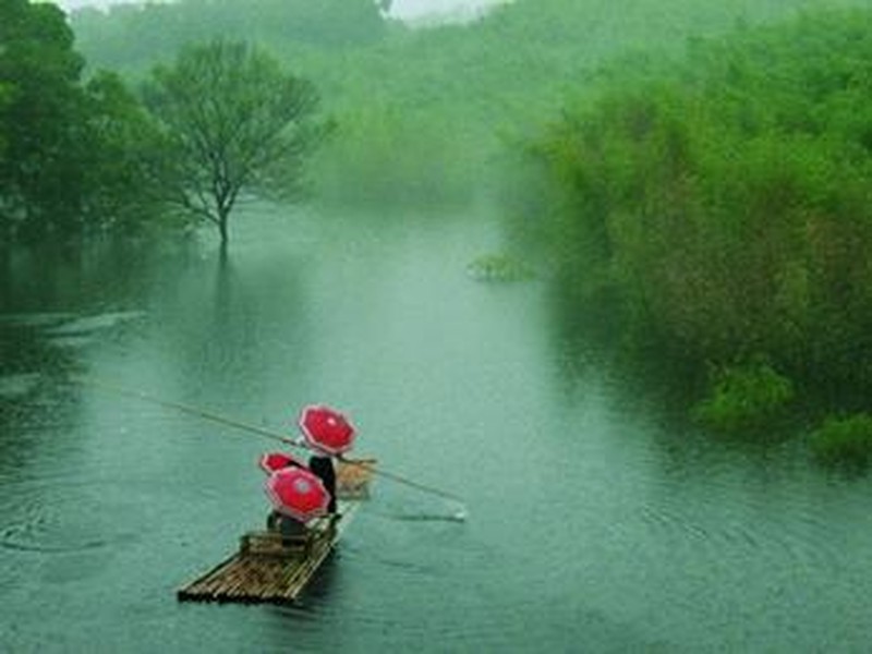
[(740, 28), (604, 71), (531, 148), (528, 231), (582, 305), (707, 373), (705, 424), (872, 409), (871, 61), (870, 11)]

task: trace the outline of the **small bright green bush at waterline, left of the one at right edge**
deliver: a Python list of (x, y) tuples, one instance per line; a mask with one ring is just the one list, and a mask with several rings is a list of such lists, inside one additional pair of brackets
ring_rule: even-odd
[(765, 363), (726, 367), (715, 375), (712, 391), (693, 408), (693, 417), (719, 432), (771, 426), (794, 399), (794, 385)]

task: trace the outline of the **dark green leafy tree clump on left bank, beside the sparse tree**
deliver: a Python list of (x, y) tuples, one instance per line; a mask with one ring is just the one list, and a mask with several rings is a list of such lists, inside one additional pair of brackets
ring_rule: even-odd
[(0, 16), (0, 234), (134, 229), (148, 213), (140, 107), (111, 74), (83, 81), (56, 7), (2, 0)]

